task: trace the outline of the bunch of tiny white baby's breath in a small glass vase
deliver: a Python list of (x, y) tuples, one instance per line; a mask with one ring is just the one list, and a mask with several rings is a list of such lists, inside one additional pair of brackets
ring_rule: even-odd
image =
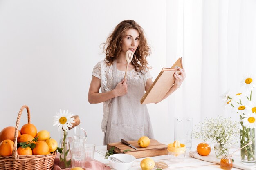
[(214, 145), (215, 155), (220, 158), (223, 154), (229, 153), (229, 148), (236, 143), (234, 139), (239, 135), (239, 124), (231, 118), (224, 118), (219, 115), (216, 118), (204, 119), (197, 126), (193, 135), (196, 139), (216, 142)]

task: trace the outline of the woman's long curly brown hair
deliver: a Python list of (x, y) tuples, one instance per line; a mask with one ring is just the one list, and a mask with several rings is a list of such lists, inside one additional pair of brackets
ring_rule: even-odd
[(134, 20), (124, 20), (120, 22), (108, 36), (103, 45), (103, 51), (106, 53), (105, 62), (111, 65), (114, 60), (119, 57), (122, 51), (122, 37), (128, 29), (136, 29), (139, 32), (139, 46), (134, 53), (132, 63), (136, 71), (145, 71), (147, 68), (150, 68), (148, 67), (146, 57), (150, 55), (151, 50), (144, 35), (144, 30)]

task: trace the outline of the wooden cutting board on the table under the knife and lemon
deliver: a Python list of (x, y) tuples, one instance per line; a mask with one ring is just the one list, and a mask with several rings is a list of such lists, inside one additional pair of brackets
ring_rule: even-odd
[[(115, 147), (114, 153), (125, 153), (135, 156), (135, 158), (154, 157), (159, 155), (167, 155), (167, 145), (159, 143), (155, 139), (150, 139), (150, 144), (146, 148), (141, 148), (138, 145), (138, 141), (128, 141), (131, 145), (135, 146), (138, 150), (131, 148), (123, 144), (122, 142), (107, 144), (107, 150), (111, 147)], [(130, 149), (131, 151), (123, 152)]]

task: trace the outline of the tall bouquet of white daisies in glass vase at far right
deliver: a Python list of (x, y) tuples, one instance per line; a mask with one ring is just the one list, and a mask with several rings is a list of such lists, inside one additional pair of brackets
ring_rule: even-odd
[(252, 101), (252, 90), (255, 86), (253, 75), (245, 75), (241, 82), (246, 86), (247, 92), (231, 96), (229, 92), (224, 95), (225, 107), (230, 107), (240, 116), (240, 146), (243, 147), (252, 141), (251, 145), (241, 149), (241, 162), (255, 164), (255, 128), (256, 103)]

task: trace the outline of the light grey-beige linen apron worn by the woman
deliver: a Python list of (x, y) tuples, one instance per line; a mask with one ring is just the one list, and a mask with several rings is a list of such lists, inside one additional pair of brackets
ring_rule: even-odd
[[(108, 116), (104, 144), (138, 140), (142, 136), (154, 139), (150, 117), (146, 104), (140, 104), (145, 85), (141, 72), (139, 79), (127, 79), (128, 92), (112, 99)], [(113, 78), (115, 88), (122, 77), (117, 77), (117, 62), (113, 62)]]

